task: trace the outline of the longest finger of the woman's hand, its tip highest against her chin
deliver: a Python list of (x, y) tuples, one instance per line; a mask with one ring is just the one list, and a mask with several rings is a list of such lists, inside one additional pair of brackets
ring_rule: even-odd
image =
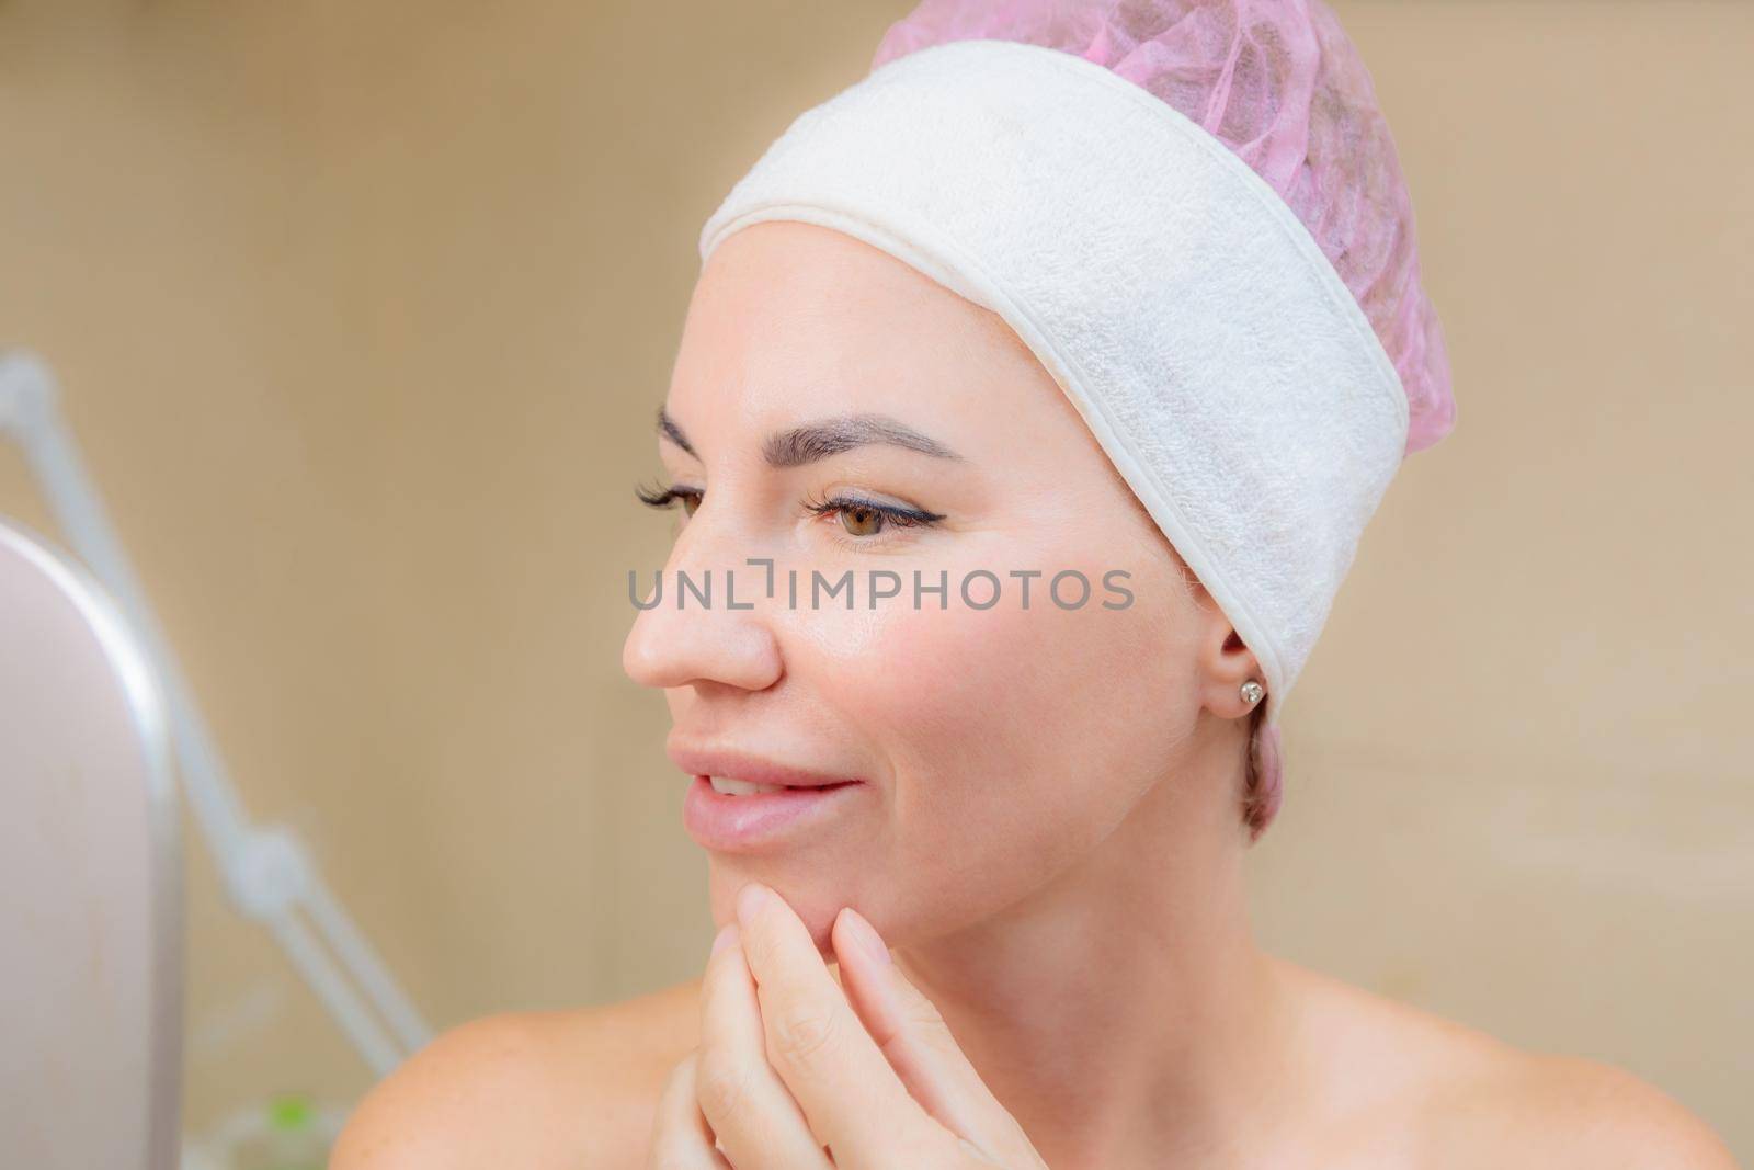
[(772, 889), (737, 898), (768, 1059), (840, 1166), (933, 1165), (952, 1135), (909, 1096), (828, 974), (809, 928)]

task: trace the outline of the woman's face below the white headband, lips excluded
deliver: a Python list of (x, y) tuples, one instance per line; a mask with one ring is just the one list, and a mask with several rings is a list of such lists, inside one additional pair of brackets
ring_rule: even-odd
[[(888, 253), (803, 223), (731, 235), (695, 288), (665, 416), (684, 519), (623, 665), (663, 688), (672, 756), (863, 781), (766, 837), (703, 842), (716, 921), (745, 881), (781, 891), (824, 951), (842, 905), (893, 945), (989, 917), (1187, 774), (1209, 751), (1201, 709), (1249, 677), (1045, 368)], [(828, 430), (786, 439), (805, 426)], [(751, 558), (774, 561), (772, 598)], [(679, 609), (677, 574), (709, 570), (710, 607)], [(882, 570), (900, 593), (873, 605), (896, 588)], [(916, 605), (916, 570), (944, 595)], [(1070, 574), (1051, 595), (1066, 570), (1087, 596)], [(826, 591), (847, 572), (852, 609)]]

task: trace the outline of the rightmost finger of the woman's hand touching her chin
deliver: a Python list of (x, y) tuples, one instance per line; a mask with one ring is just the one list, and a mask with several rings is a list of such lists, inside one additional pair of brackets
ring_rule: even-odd
[(830, 930), (840, 986), (866, 1033), (928, 1114), (1005, 1165), (1030, 1165), (1035, 1149), (1010, 1110), (951, 1035), (938, 1007), (889, 956), (877, 930), (852, 907)]

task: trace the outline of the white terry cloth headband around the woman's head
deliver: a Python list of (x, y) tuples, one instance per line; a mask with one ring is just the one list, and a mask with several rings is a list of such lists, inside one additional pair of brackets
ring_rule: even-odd
[(954, 40), (800, 114), (707, 219), (702, 265), (766, 219), (852, 235), (1003, 317), (1254, 653), (1279, 723), (1408, 407), (1247, 163), (1102, 65)]

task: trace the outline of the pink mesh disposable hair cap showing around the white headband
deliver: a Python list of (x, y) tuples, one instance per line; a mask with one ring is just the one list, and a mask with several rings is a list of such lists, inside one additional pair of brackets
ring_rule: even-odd
[[(1456, 423), (1449, 354), (1419, 282), (1414, 207), (1363, 58), (1321, 0), (921, 0), (872, 68), (951, 40), (1073, 53), (1175, 107), (1242, 158), (1308, 228), (1407, 393), (1403, 453)], [(1251, 744), (1247, 824), (1284, 791), (1279, 726)]]

